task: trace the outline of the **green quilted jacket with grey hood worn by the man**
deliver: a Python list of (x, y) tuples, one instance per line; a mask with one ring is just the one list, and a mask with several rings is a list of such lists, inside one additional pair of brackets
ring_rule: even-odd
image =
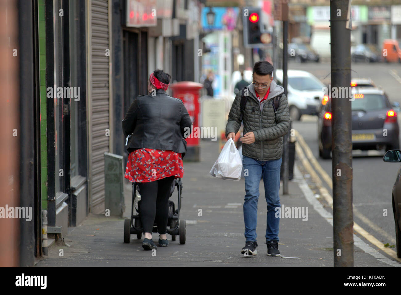
[[(226, 125), (227, 135), (230, 132), (235, 134), (241, 127), (241, 92), (239, 91), (228, 116)], [(280, 98), (277, 113), (274, 114), (272, 99), (283, 93)], [(242, 154), (259, 160), (268, 161), (282, 157), (283, 136), (290, 129), (290, 113), (288, 112), (288, 101), (284, 95), (284, 88), (271, 81), (269, 96), (267, 100), (260, 103), (257, 100), (255, 89), (252, 84), (248, 86), (248, 99), (243, 114), (244, 131), (243, 134), (253, 131), (255, 142), (253, 144), (243, 144)]]

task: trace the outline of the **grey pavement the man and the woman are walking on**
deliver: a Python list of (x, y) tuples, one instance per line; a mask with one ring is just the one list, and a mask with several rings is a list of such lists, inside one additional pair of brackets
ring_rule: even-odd
[[(80, 225), (70, 229), (64, 243), (53, 243), (49, 256), (39, 259), (35, 267), (333, 267), (331, 213), (314, 197), (298, 167), (295, 167), (294, 179), (288, 182), (288, 195), (283, 195), (281, 184), (280, 199), (285, 207), (308, 208), (308, 220), (281, 218), (279, 250), (282, 256), (267, 256), (267, 209), (261, 181), (258, 254), (244, 257), (240, 253), (245, 245), (244, 180), (212, 177), (209, 171), (218, 155), (218, 142), (201, 140), (201, 161), (184, 162), (180, 211), (181, 218), (186, 219), (184, 245), (180, 245), (178, 236), (176, 241), (171, 241), (168, 235), (168, 247), (158, 247), (153, 253), (144, 251), (142, 240), (136, 235), (131, 235), (130, 243), (123, 242), (124, 218), (90, 214)], [(128, 180), (124, 189), (124, 217), (129, 217), (132, 185)], [(176, 191), (170, 199), (176, 203)], [(202, 216), (198, 216), (199, 209), (202, 209)], [(158, 240), (157, 233), (153, 234), (153, 240)], [(360, 247), (354, 247), (355, 267), (391, 267), (391, 263), (386, 263), (391, 261), (389, 257), (375, 255), (377, 251), (360, 239), (356, 244)]]

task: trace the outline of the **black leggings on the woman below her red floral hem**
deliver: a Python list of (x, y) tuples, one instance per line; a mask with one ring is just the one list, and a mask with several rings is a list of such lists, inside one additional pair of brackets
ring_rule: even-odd
[(174, 175), (156, 181), (138, 183), (141, 206), (141, 217), (144, 233), (152, 233), (153, 224), (156, 223), (160, 235), (167, 232), (168, 198)]

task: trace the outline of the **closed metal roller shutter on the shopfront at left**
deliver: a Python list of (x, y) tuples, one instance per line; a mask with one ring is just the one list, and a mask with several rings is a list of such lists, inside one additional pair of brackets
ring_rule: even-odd
[(109, 20), (107, 0), (91, 1), (91, 212), (104, 213), (104, 155), (109, 151)]

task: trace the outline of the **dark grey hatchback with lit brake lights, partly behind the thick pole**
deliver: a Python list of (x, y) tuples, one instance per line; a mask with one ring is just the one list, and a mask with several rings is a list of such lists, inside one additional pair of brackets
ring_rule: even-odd
[[(383, 90), (352, 87), (351, 93), (352, 149), (399, 149), (397, 112)], [(331, 120), (329, 98), (318, 119), (319, 156), (323, 159), (330, 158)]]

